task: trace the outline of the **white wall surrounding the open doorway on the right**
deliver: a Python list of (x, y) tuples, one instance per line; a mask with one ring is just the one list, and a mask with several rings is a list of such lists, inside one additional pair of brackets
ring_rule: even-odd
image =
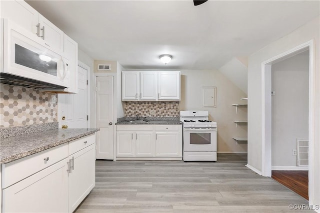
[[(314, 140), (313, 152), (310, 153), (313, 157), (312, 168), (310, 168), (311, 177), (314, 182), (312, 184), (313, 194), (310, 198), (310, 204), (319, 205), (320, 204), (320, 182), (318, 178), (320, 177), (320, 65), (319, 65), (319, 49), (320, 49), (320, 37), (319, 37), (319, 25), (320, 17), (313, 19), (312, 21), (306, 23), (305, 25), (297, 28), (290, 34), (270, 43), (266, 47), (260, 49), (254, 54), (250, 55), (248, 58), (248, 166), (255, 168), (258, 171), (262, 169), (262, 95), (261, 95), (261, 63), (263, 61), (269, 60), (270, 58), (292, 49), (302, 43), (305, 43), (311, 39), (314, 40), (314, 88), (312, 91), (314, 95), (312, 98), (313, 105), (311, 106), (314, 110), (311, 112), (311, 117), (313, 119), (313, 129), (311, 131), (311, 137)], [(316, 154), (315, 154), (316, 153)], [(309, 171), (310, 172), (310, 171)]]

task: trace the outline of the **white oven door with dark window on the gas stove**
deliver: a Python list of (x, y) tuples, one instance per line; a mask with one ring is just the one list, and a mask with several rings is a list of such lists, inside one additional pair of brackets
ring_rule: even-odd
[(183, 152), (216, 152), (216, 128), (183, 128)]

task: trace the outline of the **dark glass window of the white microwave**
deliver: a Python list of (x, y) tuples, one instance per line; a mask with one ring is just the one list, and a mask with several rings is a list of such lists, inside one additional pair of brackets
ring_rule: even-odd
[(51, 60), (48, 56), (39, 55), (18, 44), (14, 45), (14, 62), (16, 64), (57, 76), (57, 62)]

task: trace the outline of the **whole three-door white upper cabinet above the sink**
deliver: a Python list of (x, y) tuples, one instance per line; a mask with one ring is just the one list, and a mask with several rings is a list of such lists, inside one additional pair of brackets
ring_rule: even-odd
[(122, 101), (179, 101), (179, 71), (122, 71)]

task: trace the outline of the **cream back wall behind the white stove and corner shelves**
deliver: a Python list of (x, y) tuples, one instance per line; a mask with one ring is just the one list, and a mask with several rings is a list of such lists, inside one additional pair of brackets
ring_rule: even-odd
[[(246, 108), (238, 108), (232, 104), (244, 103), (240, 98), (246, 94), (235, 86), (228, 78), (217, 70), (180, 70), (181, 71), (181, 101), (180, 110), (207, 110), (209, 119), (217, 122), (217, 151), (247, 152), (246, 143), (236, 143), (232, 136), (245, 137), (247, 126), (238, 125), (233, 120), (246, 120)], [(216, 86), (216, 107), (202, 106), (202, 87)]]

